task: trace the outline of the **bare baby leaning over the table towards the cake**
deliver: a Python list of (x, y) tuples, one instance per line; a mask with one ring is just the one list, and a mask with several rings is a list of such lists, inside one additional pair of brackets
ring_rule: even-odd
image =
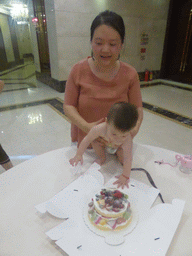
[[(106, 160), (105, 151), (116, 154), (123, 164), (123, 173), (118, 176), (114, 184), (124, 188), (128, 187), (132, 165), (132, 137), (130, 130), (133, 129), (138, 120), (136, 106), (127, 102), (115, 103), (107, 114), (106, 121), (94, 126), (87, 136), (82, 140), (77, 149), (75, 157), (70, 159), (70, 164), (76, 166), (78, 162), (83, 164), (83, 154), (90, 143), (98, 156), (96, 162), (102, 165)], [(106, 143), (96, 139), (102, 137)]]

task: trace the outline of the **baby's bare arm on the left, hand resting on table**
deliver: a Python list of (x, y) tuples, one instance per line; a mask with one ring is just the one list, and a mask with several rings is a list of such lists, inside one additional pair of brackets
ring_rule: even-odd
[(72, 166), (76, 166), (78, 162), (81, 162), (83, 164), (83, 154), (85, 150), (88, 148), (89, 144), (94, 141), (96, 138), (100, 136), (100, 129), (99, 125), (94, 126), (89, 133), (85, 136), (85, 138), (82, 140), (82, 142), (79, 145), (79, 148), (77, 149), (76, 155), (69, 160), (70, 164)]

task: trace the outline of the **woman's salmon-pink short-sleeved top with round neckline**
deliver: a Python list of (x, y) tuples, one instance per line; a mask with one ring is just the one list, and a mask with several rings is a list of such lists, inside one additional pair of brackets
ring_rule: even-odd
[[(139, 77), (132, 66), (120, 62), (117, 75), (109, 82), (93, 74), (88, 58), (73, 66), (66, 83), (64, 102), (76, 107), (88, 123), (106, 117), (111, 105), (119, 101), (142, 107)], [(72, 142), (77, 141), (79, 145), (85, 135), (71, 125)]]

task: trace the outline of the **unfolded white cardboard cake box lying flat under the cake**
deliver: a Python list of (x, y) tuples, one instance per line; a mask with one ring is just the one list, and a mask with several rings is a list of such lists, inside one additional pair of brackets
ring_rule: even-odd
[[(131, 179), (123, 190), (134, 202), (139, 213), (135, 229), (125, 236), (123, 244), (111, 246), (105, 238), (92, 232), (83, 220), (87, 195), (94, 195), (104, 186), (103, 175), (96, 163), (69, 186), (50, 200), (37, 205), (41, 213), (48, 211), (55, 217), (68, 218), (46, 232), (50, 239), (70, 256), (127, 256), (165, 255), (179, 225), (185, 202), (174, 199), (172, 204), (158, 204), (151, 208), (159, 190)], [(105, 187), (114, 187), (112, 178)], [(91, 198), (90, 198), (91, 199)]]

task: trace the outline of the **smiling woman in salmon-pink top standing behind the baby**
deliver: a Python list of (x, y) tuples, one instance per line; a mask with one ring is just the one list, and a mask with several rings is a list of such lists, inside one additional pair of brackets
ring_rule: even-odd
[(124, 39), (125, 26), (118, 14), (104, 11), (93, 20), (92, 56), (73, 66), (65, 90), (64, 112), (72, 123), (72, 142), (78, 145), (119, 101), (137, 106), (139, 118), (132, 138), (139, 131), (143, 119), (140, 82), (136, 70), (119, 60)]

